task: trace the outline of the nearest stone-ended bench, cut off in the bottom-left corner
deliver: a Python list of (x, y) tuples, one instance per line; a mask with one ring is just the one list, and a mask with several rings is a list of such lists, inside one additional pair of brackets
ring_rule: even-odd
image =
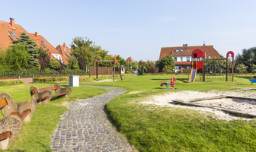
[(0, 149), (7, 150), (22, 128), (22, 120), (18, 116), (7, 116), (0, 119)]

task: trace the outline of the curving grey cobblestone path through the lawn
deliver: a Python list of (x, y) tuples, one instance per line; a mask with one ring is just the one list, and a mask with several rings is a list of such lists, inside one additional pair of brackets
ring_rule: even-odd
[[(90, 86), (94, 87), (94, 86)], [(108, 93), (72, 103), (51, 135), (53, 151), (136, 151), (109, 122), (104, 106), (125, 93), (117, 87), (104, 87)]]

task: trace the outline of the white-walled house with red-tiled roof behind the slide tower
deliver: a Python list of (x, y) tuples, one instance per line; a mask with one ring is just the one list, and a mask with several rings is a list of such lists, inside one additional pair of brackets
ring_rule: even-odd
[(219, 52), (213, 48), (213, 46), (175, 46), (175, 47), (162, 47), (159, 61), (163, 59), (164, 55), (171, 54), (172, 58), (175, 61), (175, 72), (180, 72), (181, 68), (190, 69), (191, 68), (191, 54), (194, 49), (201, 49), (205, 52), (207, 58), (219, 58)]

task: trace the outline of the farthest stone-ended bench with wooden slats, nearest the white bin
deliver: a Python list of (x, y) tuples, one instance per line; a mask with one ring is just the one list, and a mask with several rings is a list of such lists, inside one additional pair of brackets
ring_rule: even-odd
[[(53, 95), (52, 90), (55, 90), (55, 95)], [(71, 87), (62, 88), (59, 82), (56, 82), (53, 87), (45, 87), (38, 89), (35, 86), (30, 87), (30, 94), (34, 100), (37, 100), (38, 104), (49, 104), (52, 97), (66, 96), (69, 97), (72, 92)]]

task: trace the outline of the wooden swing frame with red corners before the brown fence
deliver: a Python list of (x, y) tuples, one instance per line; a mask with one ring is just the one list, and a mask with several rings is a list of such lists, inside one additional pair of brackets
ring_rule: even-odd
[[(104, 65), (104, 62), (108, 62), (108, 67), (104, 67), (102, 66), (101, 69), (99, 69), (98, 67), (98, 63), (101, 62), (102, 65)], [(111, 71), (111, 75), (113, 74), (113, 68), (109, 67), (110, 66), (110, 63), (111, 64), (114, 64), (114, 76), (113, 76), (113, 81), (115, 80), (115, 74), (116, 74), (116, 65), (117, 65), (117, 69), (118, 69), (118, 72), (120, 74), (120, 78), (121, 80), (123, 81), (123, 78), (122, 78), (122, 75), (121, 75), (121, 72), (120, 72), (120, 69), (118, 68), (118, 64), (117, 64), (117, 59), (114, 59), (114, 60), (98, 60), (98, 59), (95, 59), (95, 62), (94, 62), (94, 66), (96, 65), (96, 78), (98, 79), (98, 75), (101, 74), (102, 78), (103, 78), (103, 75), (104, 74), (108, 74), (108, 77), (110, 77), (110, 71)], [(107, 71), (106, 71), (106, 68), (107, 68)], [(91, 70), (90, 70), (91, 71)]]

